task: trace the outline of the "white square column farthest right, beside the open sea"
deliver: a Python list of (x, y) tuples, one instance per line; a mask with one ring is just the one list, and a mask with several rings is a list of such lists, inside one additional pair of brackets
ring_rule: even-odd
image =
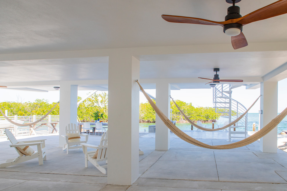
[[(278, 82), (261, 82), (260, 84), (259, 126), (262, 129), (278, 115)], [(277, 153), (277, 126), (260, 139), (259, 149), (266, 153)]]

